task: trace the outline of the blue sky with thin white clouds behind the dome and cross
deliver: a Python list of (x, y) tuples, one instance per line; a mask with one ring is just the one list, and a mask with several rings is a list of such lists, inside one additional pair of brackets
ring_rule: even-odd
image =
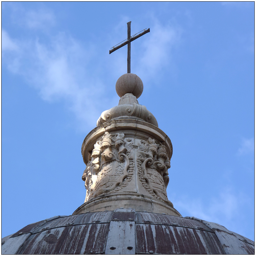
[(2, 237), (85, 198), (81, 146), (131, 73), (172, 140), (168, 198), (254, 240), (253, 2), (3, 2)]

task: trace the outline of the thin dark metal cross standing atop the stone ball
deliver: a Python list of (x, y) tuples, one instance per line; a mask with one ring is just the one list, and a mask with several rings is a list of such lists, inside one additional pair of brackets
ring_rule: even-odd
[(123, 47), (124, 45), (128, 44), (128, 52), (127, 52), (127, 73), (131, 73), (131, 42), (137, 38), (139, 38), (140, 36), (143, 36), (144, 34), (150, 32), (150, 29), (144, 29), (141, 30), (139, 33), (131, 36), (131, 22), (129, 21), (127, 22), (127, 39), (125, 39), (123, 42), (116, 44), (115, 46), (113, 46), (111, 48), (111, 50), (109, 51), (109, 54), (112, 52), (115, 52), (117, 49)]

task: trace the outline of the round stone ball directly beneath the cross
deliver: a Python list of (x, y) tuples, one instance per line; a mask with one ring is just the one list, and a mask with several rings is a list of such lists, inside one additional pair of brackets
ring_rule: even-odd
[(126, 93), (132, 93), (138, 99), (143, 92), (143, 83), (139, 76), (127, 73), (116, 81), (116, 92), (120, 98)]

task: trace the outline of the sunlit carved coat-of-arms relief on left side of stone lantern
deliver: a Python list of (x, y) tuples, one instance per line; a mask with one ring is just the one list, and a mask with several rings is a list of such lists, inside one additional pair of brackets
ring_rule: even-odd
[(133, 140), (124, 133), (105, 132), (94, 144), (82, 180), (85, 202), (101, 194), (117, 192), (129, 184), (134, 174)]

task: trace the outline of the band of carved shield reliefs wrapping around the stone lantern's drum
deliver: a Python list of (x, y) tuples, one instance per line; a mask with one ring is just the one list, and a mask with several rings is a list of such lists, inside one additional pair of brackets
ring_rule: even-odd
[(156, 142), (152, 138), (134, 140), (131, 136), (125, 137), (124, 133), (105, 132), (94, 144), (82, 176), (87, 190), (85, 202), (122, 190), (136, 178), (136, 169), (140, 183), (137, 191), (144, 194), (144, 188), (150, 196), (172, 205), (166, 193), (169, 168), (170, 160), (164, 142)]

